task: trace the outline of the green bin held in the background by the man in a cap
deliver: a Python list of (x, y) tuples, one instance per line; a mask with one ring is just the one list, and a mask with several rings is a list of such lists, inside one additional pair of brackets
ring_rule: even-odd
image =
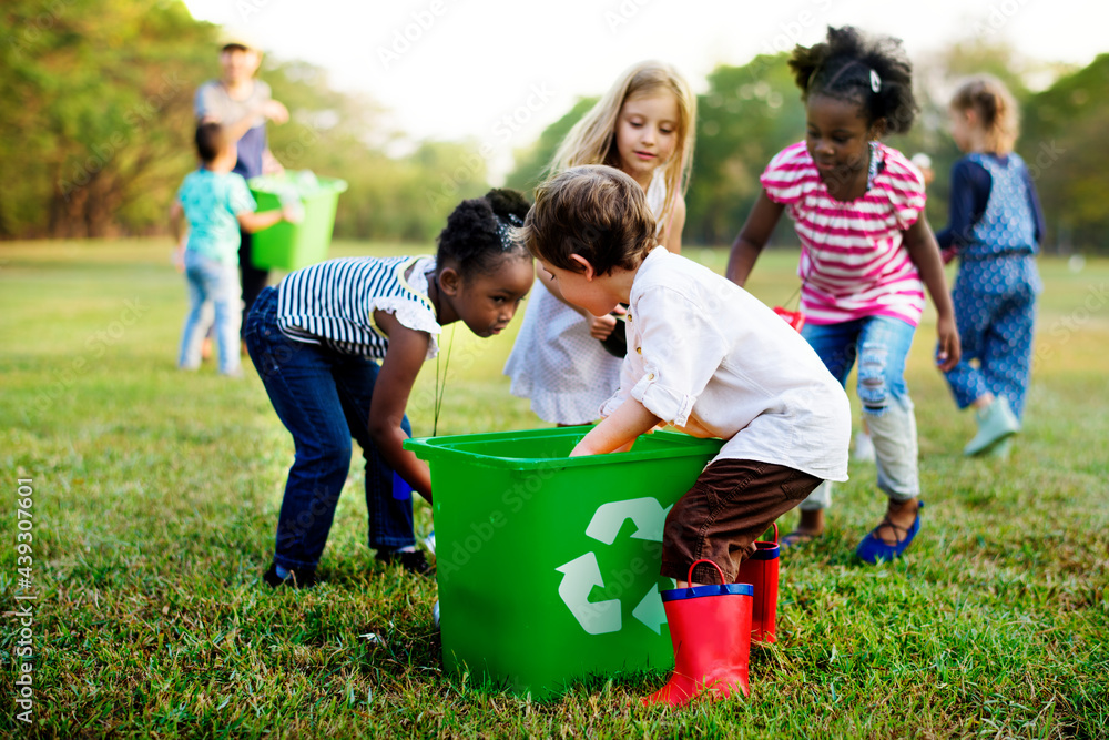
[(345, 181), (304, 171), (253, 178), (250, 186), (258, 211), (295, 201), (304, 209), (299, 223), (282, 221), (254, 234), (251, 261), (255, 267), (292, 272), (327, 259), (339, 193), (347, 189)]

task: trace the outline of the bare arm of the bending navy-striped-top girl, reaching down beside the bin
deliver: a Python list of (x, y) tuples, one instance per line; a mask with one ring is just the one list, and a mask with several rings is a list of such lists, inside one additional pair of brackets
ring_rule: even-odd
[(369, 436), (388, 466), (430, 501), (431, 475), (427, 464), (403, 447), (408, 435), (400, 428), (430, 337), (427, 332), (404, 326), (396, 316), (383, 311), (374, 313), (374, 322), (388, 335), (389, 349), (374, 384), (367, 422)]

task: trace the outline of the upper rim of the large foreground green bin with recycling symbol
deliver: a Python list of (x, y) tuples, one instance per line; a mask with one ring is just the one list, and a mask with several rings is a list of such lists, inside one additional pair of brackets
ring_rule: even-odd
[(669, 449), (648, 449), (635, 452), (634, 447), (630, 453), (612, 453), (610, 455), (589, 455), (587, 457), (501, 457), (497, 455), (485, 455), (468, 450), (452, 449), (445, 445), (459, 442), (496, 442), (498, 439), (519, 440), (526, 437), (563, 437), (583, 434), (590, 429), (588, 426), (559, 427), (557, 429), (526, 429), (519, 432), (492, 432), (488, 434), (451, 435), (444, 437), (416, 437), (406, 439), (405, 449), (410, 449), (417, 457), (424, 460), (433, 458), (452, 458), (456, 460), (469, 460), (485, 467), (506, 468), (510, 470), (535, 470), (538, 467), (590, 467), (599, 465), (612, 465), (618, 463), (632, 463), (635, 460), (661, 460), (674, 457), (695, 457), (711, 454), (715, 457), (723, 444), (720, 439), (700, 439), (691, 437), (680, 432), (655, 432), (652, 436), (670, 442), (675, 442)]

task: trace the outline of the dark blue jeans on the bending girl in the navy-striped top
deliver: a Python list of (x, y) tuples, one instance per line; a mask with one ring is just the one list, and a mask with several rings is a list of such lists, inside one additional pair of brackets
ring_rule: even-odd
[[(262, 291), (254, 302), (246, 321), (246, 348), (296, 445), (277, 520), (274, 562), (283, 568), (314, 568), (319, 562), (350, 469), (352, 437), (366, 460), (369, 546), (415, 545), (411, 498), (394, 498), (393, 469), (369, 438), (378, 364), (282, 334), (274, 287)], [(401, 428), (411, 434), (407, 417)]]

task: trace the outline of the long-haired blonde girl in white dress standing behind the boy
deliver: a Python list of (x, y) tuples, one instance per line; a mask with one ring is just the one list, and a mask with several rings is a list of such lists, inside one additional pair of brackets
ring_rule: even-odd
[[(640, 62), (573, 126), (550, 173), (608, 164), (631, 175), (647, 193), (660, 243), (679, 253), (695, 119), (696, 98), (685, 79), (670, 64)], [(570, 305), (549, 275), (537, 275), (505, 374), (512, 378), (512, 394), (530, 398), (541, 419), (587, 424), (619, 385), (621, 358), (599, 342), (612, 333), (617, 318)]]

